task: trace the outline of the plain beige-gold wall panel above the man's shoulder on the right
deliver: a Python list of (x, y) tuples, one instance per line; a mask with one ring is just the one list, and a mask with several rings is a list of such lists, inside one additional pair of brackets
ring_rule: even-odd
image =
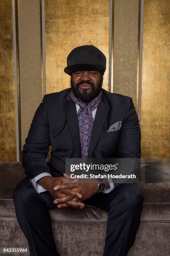
[(115, 0), (113, 92), (137, 101), (138, 0)]

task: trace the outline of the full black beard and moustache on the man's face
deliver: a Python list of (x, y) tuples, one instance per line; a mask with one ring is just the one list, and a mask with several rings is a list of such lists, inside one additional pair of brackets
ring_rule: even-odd
[[(103, 82), (103, 75), (101, 72), (100, 72), (100, 83), (98, 84), (97, 88), (95, 88), (95, 85), (90, 81), (87, 81), (87, 82), (81, 81), (81, 82), (75, 84), (75, 86), (74, 86), (72, 83), (72, 77), (70, 80), (71, 88), (72, 88), (72, 91), (73, 91), (75, 97), (77, 97), (79, 100), (82, 100), (85, 103), (89, 103), (91, 100), (93, 100), (95, 97), (97, 97), (97, 95), (99, 95), (99, 93), (102, 90), (102, 82)], [(87, 92), (87, 89), (83, 89), (83, 92), (81, 93), (78, 90), (78, 88), (81, 84), (90, 84), (92, 86), (91, 92)]]

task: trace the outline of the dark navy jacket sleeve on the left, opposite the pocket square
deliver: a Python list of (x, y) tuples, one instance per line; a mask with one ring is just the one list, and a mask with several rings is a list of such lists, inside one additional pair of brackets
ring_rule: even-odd
[(47, 115), (46, 95), (44, 95), (42, 103), (40, 103), (33, 117), (28, 137), (25, 139), (21, 153), (23, 168), (29, 179), (43, 172), (51, 174), (46, 161), (49, 146), (49, 120)]

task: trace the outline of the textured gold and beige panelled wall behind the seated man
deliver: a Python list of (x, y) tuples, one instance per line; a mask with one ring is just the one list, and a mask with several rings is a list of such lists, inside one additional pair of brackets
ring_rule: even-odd
[[(114, 9), (114, 92), (133, 97), (135, 103), (138, 0), (115, 0)], [(18, 0), (18, 14), (23, 144), (41, 101), (39, 0)], [(12, 0), (0, 0), (0, 33), (0, 161), (16, 161)], [(82, 44), (105, 53), (103, 87), (108, 90), (109, 0), (45, 0), (46, 93), (70, 87), (70, 76), (63, 71), (66, 58)], [(169, 0), (145, 0), (141, 130), (147, 158), (170, 156), (169, 51)]]

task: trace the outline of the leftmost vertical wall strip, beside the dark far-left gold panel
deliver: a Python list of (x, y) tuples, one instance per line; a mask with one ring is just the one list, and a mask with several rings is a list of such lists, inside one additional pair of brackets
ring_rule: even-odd
[(19, 44), (18, 44), (18, 2), (13, 5), (13, 45), (14, 45), (14, 80), (15, 80), (15, 113), (16, 113), (16, 148), (17, 161), (21, 161), (21, 115), (20, 115), (20, 71), (19, 71)]

